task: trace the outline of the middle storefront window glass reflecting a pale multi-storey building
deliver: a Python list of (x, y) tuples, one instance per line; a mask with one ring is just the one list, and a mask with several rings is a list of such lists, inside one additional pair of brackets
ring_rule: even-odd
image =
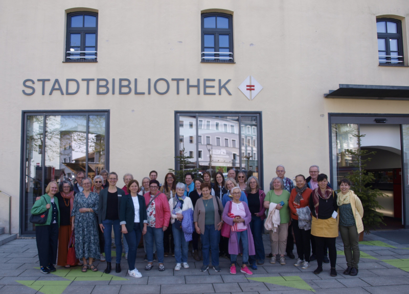
[[(185, 155), (193, 157), (191, 164), (185, 166), (185, 169), (197, 168), (199, 175), (210, 171), (212, 180), (217, 171), (226, 176), (231, 168), (244, 170), (247, 176), (259, 178), (261, 150), (258, 150), (258, 114), (183, 113), (178, 115), (176, 122), (179, 126), (178, 133), (175, 134), (176, 156), (185, 148)], [(184, 128), (188, 122), (192, 127)]]

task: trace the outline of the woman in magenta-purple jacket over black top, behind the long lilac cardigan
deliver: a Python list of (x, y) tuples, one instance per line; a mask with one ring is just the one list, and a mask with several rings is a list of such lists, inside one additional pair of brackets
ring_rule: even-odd
[(256, 249), (256, 255), (250, 255), (248, 262), (253, 269), (257, 269), (257, 264), (264, 264), (265, 256), (263, 245), (263, 220), (265, 219), (266, 210), (263, 206), (265, 193), (260, 187), (259, 180), (253, 176), (248, 178), (245, 192), (248, 201), (248, 209), (252, 214), (250, 229), (253, 233), (254, 247)]

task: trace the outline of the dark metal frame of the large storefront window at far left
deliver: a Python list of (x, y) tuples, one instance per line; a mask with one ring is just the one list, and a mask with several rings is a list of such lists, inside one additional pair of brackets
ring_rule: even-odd
[[(46, 116), (50, 115), (87, 115), (87, 126), (89, 124), (89, 115), (105, 115), (105, 169), (109, 170), (109, 138), (110, 138), (110, 110), (22, 110), (21, 111), (21, 141), (20, 141), (20, 207), (19, 207), (19, 235), (26, 237), (35, 237), (34, 231), (26, 231), (25, 228), (25, 177), (26, 177), (26, 130), (27, 130), (27, 116), (28, 115), (43, 115), (44, 122), (46, 121)], [(43, 124), (43, 133), (45, 133), (46, 124)], [(88, 145), (86, 147), (88, 149)], [(44, 150), (42, 152), (42, 161), (45, 161)], [(86, 153), (87, 154), (87, 153)], [(86, 156), (87, 157), (87, 156)], [(45, 165), (41, 164), (43, 167), (42, 174), (44, 174)], [(88, 169), (88, 168), (87, 168)], [(46, 187), (43, 187), (44, 191)]]

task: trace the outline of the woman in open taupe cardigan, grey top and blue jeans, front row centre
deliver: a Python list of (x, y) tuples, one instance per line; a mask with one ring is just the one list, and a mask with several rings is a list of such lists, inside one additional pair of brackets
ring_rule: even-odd
[(221, 226), (223, 225), (220, 208), (223, 208), (223, 205), (219, 197), (213, 197), (210, 194), (212, 186), (209, 183), (202, 183), (200, 189), (202, 197), (197, 200), (193, 213), (195, 231), (200, 235), (202, 242), (203, 265), (200, 272), (206, 272), (209, 268), (210, 249), (212, 249), (213, 269), (220, 272), (219, 240)]

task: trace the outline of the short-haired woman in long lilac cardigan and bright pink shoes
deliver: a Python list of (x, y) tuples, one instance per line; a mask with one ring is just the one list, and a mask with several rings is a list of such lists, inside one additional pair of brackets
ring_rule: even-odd
[[(252, 220), (252, 214), (250, 213), (247, 204), (239, 200), (241, 196), (241, 190), (239, 187), (232, 188), (231, 194), (233, 195), (233, 201), (226, 203), (223, 211), (223, 221), (230, 226), (237, 226), (237, 230), (230, 231), (230, 274), (236, 275), (237, 255), (243, 253), (240, 272), (247, 275), (253, 275), (247, 267), (248, 255), (255, 255), (253, 235), (249, 226), (249, 223)], [(229, 211), (234, 217), (229, 215)], [(240, 250), (240, 240), (242, 243), (242, 250)]]

